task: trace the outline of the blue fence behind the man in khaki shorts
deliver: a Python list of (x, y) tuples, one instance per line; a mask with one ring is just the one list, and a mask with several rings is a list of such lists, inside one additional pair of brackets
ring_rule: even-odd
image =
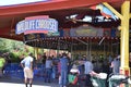
[[(34, 80), (41, 80), (46, 77), (46, 69), (44, 64), (36, 64), (34, 66)], [(20, 65), (20, 63), (9, 63), (5, 64), (3, 74), (5, 76), (10, 76), (11, 78), (24, 78), (24, 72), (23, 67)], [(51, 77), (56, 78), (58, 74), (57, 65), (52, 67), (52, 74)]]

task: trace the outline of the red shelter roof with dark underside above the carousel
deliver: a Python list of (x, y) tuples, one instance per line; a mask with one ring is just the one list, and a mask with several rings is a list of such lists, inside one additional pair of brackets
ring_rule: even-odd
[[(112, 13), (108, 13), (109, 11), (105, 14), (106, 8), (102, 5), (104, 1), (121, 12), (121, 3), (124, 0), (47, 0), (0, 7), (0, 37), (22, 41), (24, 34), (15, 35), (16, 24), (25, 17), (36, 15), (49, 15), (49, 17), (56, 18), (59, 28), (78, 27), (83, 24), (105, 28), (119, 26), (119, 18), (112, 16)], [(71, 15), (76, 16), (71, 17)], [(85, 20), (87, 16), (92, 21)]]

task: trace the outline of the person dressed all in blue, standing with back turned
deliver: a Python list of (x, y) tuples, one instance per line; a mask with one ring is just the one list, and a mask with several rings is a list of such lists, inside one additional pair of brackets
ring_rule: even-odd
[(67, 53), (62, 53), (62, 58), (60, 59), (60, 87), (66, 87), (68, 83), (68, 65), (69, 60), (67, 58)]

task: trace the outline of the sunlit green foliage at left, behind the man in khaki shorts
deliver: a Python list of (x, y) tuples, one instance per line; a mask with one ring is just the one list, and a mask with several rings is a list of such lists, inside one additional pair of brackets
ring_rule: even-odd
[(9, 52), (12, 62), (20, 62), (21, 55), (27, 55), (28, 52), (34, 53), (34, 49), (32, 47), (25, 48), (22, 41), (0, 38), (0, 52)]

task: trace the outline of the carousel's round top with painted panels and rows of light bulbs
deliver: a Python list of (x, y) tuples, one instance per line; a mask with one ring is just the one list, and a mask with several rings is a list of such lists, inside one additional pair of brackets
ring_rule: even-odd
[[(82, 25), (70, 29), (59, 29), (58, 35), (53, 34), (27, 34), (24, 35), (24, 42), (28, 46), (49, 49), (61, 49), (71, 51), (86, 50), (88, 45), (93, 47), (106, 47), (119, 42), (119, 30), (115, 28), (98, 28)], [(118, 35), (117, 35), (118, 34)]]

